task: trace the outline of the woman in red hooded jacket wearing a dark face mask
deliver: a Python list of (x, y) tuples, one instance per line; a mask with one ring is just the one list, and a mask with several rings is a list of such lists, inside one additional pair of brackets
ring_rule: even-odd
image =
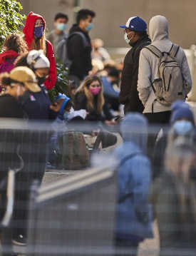
[(56, 63), (53, 53), (52, 44), (45, 39), (46, 22), (43, 17), (34, 14), (31, 11), (26, 17), (24, 26), (24, 39), (31, 50), (43, 50), (46, 57), (50, 61), (49, 77), (45, 81), (45, 86), (48, 90), (53, 88), (56, 83)]

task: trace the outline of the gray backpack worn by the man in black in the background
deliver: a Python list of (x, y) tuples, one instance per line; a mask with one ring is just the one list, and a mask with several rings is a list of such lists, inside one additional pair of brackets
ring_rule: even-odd
[(82, 40), (83, 40), (83, 46), (86, 47), (88, 46), (88, 41), (86, 39), (86, 36), (84, 36), (84, 34), (82, 32), (74, 32), (73, 34), (71, 34), (68, 37), (64, 37), (56, 46), (56, 56), (57, 58), (67, 67), (70, 68), (71, 64), (72, 64), (72, 60), (70, 60), (68, 58), (68, 49), (67, 49), (67, 41), (68, 39), (70, 39), (71, 37), (73, 37), (74, 35), (79, 35), (81, 36)]

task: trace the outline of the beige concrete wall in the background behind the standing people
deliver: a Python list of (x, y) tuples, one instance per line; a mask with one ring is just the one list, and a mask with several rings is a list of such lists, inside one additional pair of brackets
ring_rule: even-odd
[[(21, 0), (24, 12), (35, 11), (46, 19), (48, 29), (53, 27), (53, 16), (63, 11), (73, 24), (74, 0)], [(183, 48), (196, 43), (195, 0), (81, 0), (81, 7), (96, 11), (95, 28), (91, 37), (100, 37), (108, 47), (124, 47), (123, 31), (130, 16), (141, 16), (149, 21), (152, 16), (162, 14), (170, 23), (170, 39)]]

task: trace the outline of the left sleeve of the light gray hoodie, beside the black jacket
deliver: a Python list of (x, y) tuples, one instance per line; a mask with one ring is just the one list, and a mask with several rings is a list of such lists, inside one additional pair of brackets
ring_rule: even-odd
[(148, 50), (143, 49), (140, 53), (138, 73), (138, 93), (143, 106), (145, 106), (145, 103), (148, 101), (151, 91), (151, 68), (150, 63), (145, 56), (146, 51)]

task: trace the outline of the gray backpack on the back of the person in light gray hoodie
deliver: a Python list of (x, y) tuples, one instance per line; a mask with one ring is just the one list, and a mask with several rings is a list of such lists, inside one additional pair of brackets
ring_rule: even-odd
[(176, 56), (180, 46), (172, 44), (170, 52), (161, 52), (153, 45), (146, 46), (155, 56), (159, 58), (158, 74), (152, 81), (156, 100), (164, 106), (171, 106), (177, 100), (185, 101), (187, 96), (187, 83), (184, 81)]

